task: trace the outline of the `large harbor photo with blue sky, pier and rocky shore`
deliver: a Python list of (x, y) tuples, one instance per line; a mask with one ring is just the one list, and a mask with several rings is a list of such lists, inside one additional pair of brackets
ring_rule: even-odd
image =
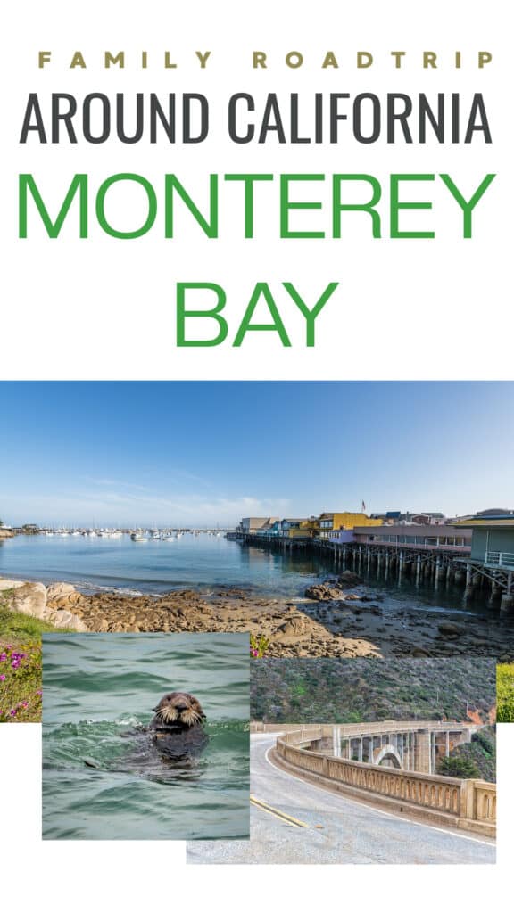
[(509, 664), (513, 394), (1, 383), (0, 719), (38, 719), (52, 631), (248, 633), (254, 660)]

